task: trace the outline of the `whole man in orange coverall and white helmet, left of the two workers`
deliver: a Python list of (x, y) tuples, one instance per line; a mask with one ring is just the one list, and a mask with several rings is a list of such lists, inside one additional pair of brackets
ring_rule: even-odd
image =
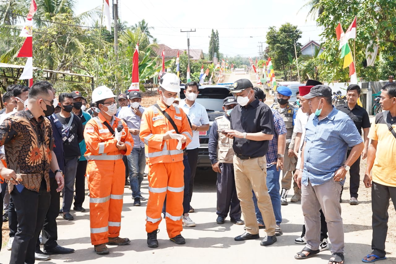
[[(115, 97), (106, 86), (93, 90), (92, 101), (100, 113), (89, 120), (84, 129), (91, 243), (97, 254), (109, 253), (106, 243), (126, 245), (130, 242), (119, 234), (125, 183), (122, 156), (131, 153), (133, 139), (126, 123), (114, 116), (117, 113)], [(121, 139), (117, 140), (114, 134), (121, 134)]]

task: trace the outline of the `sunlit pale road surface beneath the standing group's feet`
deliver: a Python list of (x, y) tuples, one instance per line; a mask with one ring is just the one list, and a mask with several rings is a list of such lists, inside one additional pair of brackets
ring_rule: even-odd
[[(293, 241), (301, 232), (303, 215), (300, 203), (290, 203), (282, 206), (284, 234), (278, 237), (278, 242), (269, 247), (260, 246), (259, 239), (237, 242), (234, 237), (244, 232), (243, 226), (230, 223), (229, 218), (223, 225), (215, 223), (216, 193), (215, 174), (211, 170), (199, 170), (196, 175), (196, 192), (192, 199), (192, 206), (196, 213), (191, 213), (191, 219), (196, 222), (194, 228), (185, 228), (182, 234), (186, 238), (185, 245), (175, 245), (169, 241), (166, 233), (165, 222), (160, 223), (157, 249), (147, 247), (145, 232), (145, 207), (134, 207), (131, 199), (131, 190), (126, 188), (124, 194), (124, 207), (122, 211), (121, 236), (131, 239), (125, 246), (109, 246), (110, 254), (99, 256), (94, 253), (89, 239), (89, 212), (74, 213), (74, 221), (65, 221), (58, 218), (59, 240), (62, 246), (76, 249), (69, 255), (58, 255), (46, 262), (47, 264), (59, 263), (274, 263), (274, 264), (316, 264), (327, 263), (330, 251), (307, 260), (295, 260), (293, 255), (303, 248)], [(148, 182), (144, 179), (142, 184), (143, 196), (148, 197)], [(363, 189), (362, 192), (367, 191)], [(346, 192), (345, 192), (346, 193)], [(289, 199), (292, 194), (289, 195)], [(363, 195), (362, 195), (363, 196)], [(360, 196), (359, 196), (360, 197)], [(346, 197), (345, 197), (346, 198)], [(358, 206), (350, 206), (344, 200), (343, 218), (345, 225), (345, 257), (347, 264), (362, 263), (361, 258), (370, 251), (371, 243), (371, 214), (368, 201), (361, 201)], [(89, 198), (84, 203), (89, 208)], [(366, 215), (360, 217), (361, 212)], [(265, 235), (260, 230), (261, 239)], [(388, 260), (381, 263), (396, 263), (396, 246), (386, 244)], [(8, 263), (10, 251), (5, 248), (0, 252), (0, 263)], [(37, 263), (37, 262), (36, 262)]]

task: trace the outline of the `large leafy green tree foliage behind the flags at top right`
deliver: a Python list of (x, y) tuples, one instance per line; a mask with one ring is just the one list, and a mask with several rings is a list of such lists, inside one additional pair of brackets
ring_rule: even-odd
[[(339, 41), (336, 39), (335, 28), (340, 22), (344, 31), (357, 16), (356, 32), (356, 73), (367, 81), (386, 79), (387, 72), (394, 71), (394, 54), (396, 52), (396, 2), (388, 0), (351, 0), (343, 1), (320, 0), (322, 13), (317, 23), (324, 27), (321, 36), (326, 39), (325, 51), (320, 55), (324, 60), (319, 74), (320, 81), (348, 81), (348, 68), (342, 69), (343, 59), (339, 51)], [(366, 58), (366, 46), (370, 40), (379, 44), (379, 55), (383, 62), (376, 62), (377, 66), (363, 68), (362, 62)], [(354, 45), (349, 40), (352, 51)], [(382, 53), (382, 54), (381, 54)], [(388, 65), (388, 66), (387, 66)], [(393, 66), (393, 68), (392, 68)], [(385, 75), (384, 75), (385, 74)]]

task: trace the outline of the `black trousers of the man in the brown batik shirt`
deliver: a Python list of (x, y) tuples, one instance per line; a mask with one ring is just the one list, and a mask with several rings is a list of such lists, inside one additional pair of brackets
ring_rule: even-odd
[(12, 243), (10, 264), (33, 264), (34, 249), (48, 211), (51, 194), (43, 180), (39, 192), (16, 187), (11, 192), (18, 217), (18, 230)]

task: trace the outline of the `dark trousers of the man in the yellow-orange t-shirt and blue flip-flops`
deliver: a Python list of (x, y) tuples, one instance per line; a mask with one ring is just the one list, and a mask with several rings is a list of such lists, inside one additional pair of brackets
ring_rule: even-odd
[(385, 241), (386, 233), (388, 233), (388, 207), (390, 198), (396, 210), (396, 187), (373, 182), (373, 186), (371, 186), (371, 210), (373, 211), (373, 239), (371, 240), (371, 249), (373, 249), (373, 254), (380, 258), (386, 255)]

